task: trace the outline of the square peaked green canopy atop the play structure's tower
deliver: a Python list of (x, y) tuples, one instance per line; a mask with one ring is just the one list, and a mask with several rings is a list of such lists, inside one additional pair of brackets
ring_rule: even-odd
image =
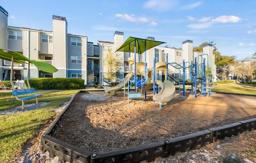
[(165, 43), (165, 42), (161, 42), (161, 41), (129, 37), (123, 43), (123, 45), (121, 45), (117, 49), (117, 51), (129, 52), (129, 47), (130, 47), (130, 52), (134, 53), (135, 42), (136, 42), (136, 53), (140, 53), (140, 54), (142, 54), (145, 51), (145, 43), (146, 43), (146, 50), (151, 49), (152, 47), (155, 47), (155, 46), (158, 46), (158, 45), (161, 45), (161, 44)]

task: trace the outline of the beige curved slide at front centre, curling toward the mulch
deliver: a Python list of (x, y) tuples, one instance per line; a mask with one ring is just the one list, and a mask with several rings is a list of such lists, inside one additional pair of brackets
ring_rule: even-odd
[(155, 103), (159, 104), (159, 107), (161, 109), (162, 105), (166, 105), (167, 102), (174, 98), (175, 86), (169, 80), (165, 80), (164, 82), (157, 80), (157, 85), (161, 86), (161, 91), (153, 96), (153, 100), (155, 100)]

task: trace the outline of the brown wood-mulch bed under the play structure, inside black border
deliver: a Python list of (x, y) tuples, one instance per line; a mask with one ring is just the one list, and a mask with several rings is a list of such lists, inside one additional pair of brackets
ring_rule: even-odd
[(132, 106), (123, 101), (122, 91), (114, 97), (105, 92), (80, 93), (53, 136), (82, 149), (105, 152), (256, 117), (255, 97), (214, 94), (195, 99), (190, 92), (177, 93), (160, 110), (152, 92), (147, 95), (145, 104), (135, 101)]

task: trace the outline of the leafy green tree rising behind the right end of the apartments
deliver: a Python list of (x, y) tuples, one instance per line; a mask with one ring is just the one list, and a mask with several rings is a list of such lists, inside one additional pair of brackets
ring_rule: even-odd
[(193, 51), (197, 52), (203, 52), (203, 45), (206, 45), (208, 43), (211, 43), (213, 45), (213, 54), (215, 54), (215, 65), (217, 67), (217, 72), (221, 72), (221, 67), (227, 66), (230, 64), (235, 64), (237, 61), (236, 56), (225, 56), (221, 55), (221, 53), (218, 51), (218, 48), (216, 47), (216, 43), (213, 41), (210, 42), (203, 42), (197, 47), (193, 47)]

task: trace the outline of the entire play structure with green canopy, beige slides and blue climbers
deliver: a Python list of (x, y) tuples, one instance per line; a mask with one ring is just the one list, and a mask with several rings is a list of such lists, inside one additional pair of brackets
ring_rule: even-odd
[[(124, 101), (125, 101), (125, 87), (128, 88), (128, 103), (131, 99), (141, 100), (142, 103), (146, 100), (146, 92), (150, 89), (153, 89), (153, 100), (155, 103), (159, 104), (161, 109), (163, 105), (166, 105), (168, 101), (172, 100), (175, 95), (175, 86), (172, 82), (169, 81), (168, 77), (172, 78), (170, 74), (170, 69), (168, 66), (172, 66), (175, 69), (179, 70), (179, 92), (180, 86), (183, 85), (183, 96), (185, 96), (185, 84), (191, 85), (191, 94), (195, 94), (197, 98), (197, 86), (201, 85), (201, 94), (207, 97), (214, 92), (212, 92), (211, 79), (209, 77), (209, 67), (208, 67), (208, 54), (201, 54), (194, 58), (194, 61), (182, 63), (170, 62), (168, 63), (168, 53), (166, 53), (166, 62), (157, 62), (154, 58), (153, 67), (147, 67), (146, 60), (146, 51), (157, 45), (160, 45), (164, 42), (158, 42), (155, 40), (147, 40), (142, 38), (129, 37), (123, 45), (117, 49), (117, 51), (128, 52), (129, 58), (129, 73), (124, 77), (124, 79), (115, 87), (105, 89), (105, 92), (114, 96), (116, 91), (119, 91), (124, 88)], [(134, 53), (134, 58), (131, 57), (131, 53)], [(137, 62), (136, 53), (140, 56), (144, 53), (144, 62)], [(199, 60), (200, 58), (200, 60)], [(206, 65), (207, 59), (207, 65)], [(138, 60), (139, 61), (139, 60)], [(200, 61), (200, 62), (199, 62)], [(207, 71), (206, 71), (207, 66)], [(182, 77), (181, 77), (182, 70)], [(157, 78), (157, 72), (162, 71), (165, 74), (164, 82), (160, 78)], [(190, 73), (190, 82), (186, 82), (187, 71)], [(206, 75), (207, 72), (207, 75)], [(176, 74), (175, 74), (176, 76)], [(181, 81), (182, 79), (182, 81)], [(134, 90), (131, 89), (134, 85)], [(159, 92), (159, 87), (161, 91)], [(133, 90), (133, 91), (132, 91)], [(143, 97), (144, 94), (144, 97)], [(134, 104), (134, 102), (133, 102)]]

